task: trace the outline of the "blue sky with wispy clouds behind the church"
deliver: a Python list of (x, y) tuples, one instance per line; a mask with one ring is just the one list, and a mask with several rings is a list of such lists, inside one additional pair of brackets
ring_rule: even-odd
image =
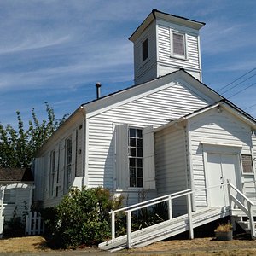
[[(128, 38), (152, 9), (207, 23), (202, 74), (213, 90), (256, 67), (254, 0), (0, 0), (0, 122), (16, 125), (16, 110), (27, 121), (32, 108), (45, 119), (44, 102), (61, 118), (94, 99), (98, 81), (102, 95), (132, 85)], [(255, 78), (224, 93), (253, 117)]]

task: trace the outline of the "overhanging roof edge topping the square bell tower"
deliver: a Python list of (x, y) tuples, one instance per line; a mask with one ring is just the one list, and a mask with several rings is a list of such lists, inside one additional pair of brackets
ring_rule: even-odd
[(143, 20), (143, 23), (137, 27), (136, 31), (132, 33), (129, 40), (131, 40), (131, 42), (134, 42), (137, 39), (137, 37), (143, 32), (143, 30), (147, 26), (149, 26), (155, 19), (168, 20), (182, 26), (192, 27), (197, 30), (201, 29), (202, 26), (206, 25), (206, 23), (201, 21), (190, 20), (182, 16), (170, 15), (170, 14), (161, 12), (157, 9), (153, 9), (152, 12), (148, 15), (148, 17), (145, 20)]

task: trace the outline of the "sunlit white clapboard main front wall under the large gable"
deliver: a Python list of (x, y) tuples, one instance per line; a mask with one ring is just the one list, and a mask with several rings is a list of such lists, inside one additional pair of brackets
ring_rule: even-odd
[(140, 99), (97, 114), (88, 120), (88, 185), (113, 188), (113, 124), (154, 128), (207, 106), (207, 101), (182, 84), (170, 84)]

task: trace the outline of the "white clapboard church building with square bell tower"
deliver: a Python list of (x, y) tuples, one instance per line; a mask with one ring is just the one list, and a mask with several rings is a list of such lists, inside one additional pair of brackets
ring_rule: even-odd
[[(129, 38), (135, 85), (80, 105), (49, 137), (35, 160), (34, 200), (53, 207), (72, 186), (102, 186), (125, 207), (142, 191), (150, 200), (193, 190), (193, 212), (223, 212), (230, 182), (256, 201), (256, 119), (202, 83), (204, 25), (152, 10)], [(172, 214), (186, 209), (179, 201)]]

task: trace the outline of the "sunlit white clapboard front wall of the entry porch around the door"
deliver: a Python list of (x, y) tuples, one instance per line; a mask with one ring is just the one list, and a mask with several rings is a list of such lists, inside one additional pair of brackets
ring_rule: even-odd
[[(241, 154), (251, 154), (250, 127), (223, 110), (212, 109), (189, 119), (190, 149), (195, 189), (206, 187), (205, 166), (201, 142), (242, 145)], [(195, 195), (197, 207), (206, 207), (206, 195)]]

